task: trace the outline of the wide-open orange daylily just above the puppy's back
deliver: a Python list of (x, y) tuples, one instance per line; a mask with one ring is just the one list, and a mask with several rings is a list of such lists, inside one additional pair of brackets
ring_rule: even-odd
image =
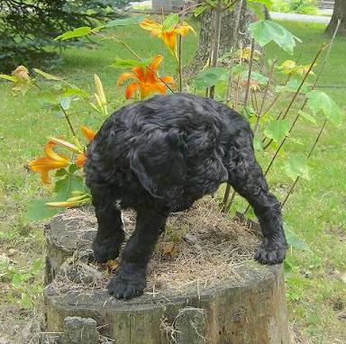
[(162, 59), (163, 57), (158, 55), (147, 67), (132, 68), (132, 72), (125, 72), (118, 78), (117, 86), (121, 86), (125, 80), (135, 80), (126, 87), (125, 96), (127, 99), (131, 98), (138, 90), (141, 93), (141, 99), (154, 93), (165, 94), (165, 84), (175, 84), (173, 77), (158, 77), (157, 69)]

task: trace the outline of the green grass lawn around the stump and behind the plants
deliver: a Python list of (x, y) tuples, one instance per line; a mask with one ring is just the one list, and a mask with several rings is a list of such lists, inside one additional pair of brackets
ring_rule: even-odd
[[(309, 63), (317, 47), (328, 40), (323, 35), (323, 25), (283, 24), (300, 37), (303, 44), (298, 44), (293, 58), (277, 46), (269, 45), (267, 58), (296, 59), (302, 53), (300, 63)], [(126, 32), (125, 37), (144, 58), (162, 50), (159, 40), (150, 38), (139, 28)], [(189, 35), (185, 45), (186, 62), (193, 56), (195, 47), (196, 37)], [(346, 40), (336, 39), (318, 83), (318, 86), (327, 86), (323, 90), (332, 95), (343, 111), (346, 110), (346, 88), (335, 86), (346, 86), (345, 77), (342, 77), (345, 75), (345, 53)], [(174, 59), (166, 55), (164, 74), (175, 73)], [(66, 50), (62, 65), (51, 72), (92, 92), (89, 87), (93, 85), (93, 74), (97, 73), (104, 83), (111, 108), (116, 109), (125, 103), (125, 99), (123, 89), (115, 86), (119, 71), (108, 66), (118, 56), (131, 58), (122, 47), (102, 41), (97, 49)], [(66, 122), (47, 113), (38, 100), (36, 92), (14, 97), (9, 85), (0, 83), (0, 259), (8, 257), (11, 260), (10, 267), (0, 267), (0, 338), (2, 332), (10, 338), (18, 338), (23, 323), (37, 318), (41, 304), (43, 226), (41, 223), (25, 223), (23, 213), (30, 200), (44, 195), (47, 190), (41, 186), (38, 176), (28, 172), (26, 165), (41, 154), (47, 136), (66, 132)], [(87, 123), (97, 130), (105, 120), (91, 108), (79, 108), (78, 111), (71, 117), (76, 127)], [(310, 249), (294, 249), (288, 255), (291, 268), (287, 270), (287, 301), (291, 324), (312, 343), (346, 342), (346, 322), (337, 317), (346, 307), (346, 285), (341, 279), (342, 276), (345, 279), (346, 274), (344, 128), (345, 124), (340, 128), (327, 124), (311, 161), (312, 178), (297, 185), (284, 210), (285, 221)], [(299, 123), (296, 132), (301, 140), (312, 143), (317, 131), (317, 128), (310, 129)], [(289, 151), (303, 152), (308, 147), (309, 144), (306, 147), (292, 146)], [(259, 159), (264, 162), (268, 158)], [(269, 184), (282, 197), (289, 181), (280, 173), (279, 167), (272, 172)]]

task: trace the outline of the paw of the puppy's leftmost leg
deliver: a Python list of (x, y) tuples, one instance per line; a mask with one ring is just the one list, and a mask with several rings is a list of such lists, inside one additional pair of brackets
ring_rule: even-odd
[(96, 236), (93, 242), (94, 257), (97, 263), (105, 263), (107, 260), (118, 258), (123, 235), (100, 239)]

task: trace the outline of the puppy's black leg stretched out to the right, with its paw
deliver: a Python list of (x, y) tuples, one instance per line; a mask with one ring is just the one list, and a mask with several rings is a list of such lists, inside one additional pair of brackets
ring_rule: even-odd
[(278, 199), (269, 193), (268, 184), (252, 147), (242, 146), (233, 152), (233, 157), (236, 158), (229, 167), (229, 183), (252, 206), (264, 237), (255, 253), (255, 259), (262, 264), (281, 263), (286, 256), (287, 240)]

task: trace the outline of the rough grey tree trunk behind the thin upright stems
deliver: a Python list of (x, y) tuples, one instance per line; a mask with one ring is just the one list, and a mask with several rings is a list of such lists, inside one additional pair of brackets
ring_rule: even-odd
[[(221, 35), (219, 56), (225, 52), (232, 50), (233, 43), (233, 27), (237, 13), (237, 6), (234, 11), (226, 11), (222, 14), (221, 20)], [(249, 23), (251, 22), (251, 12), (247, 8), (244, 1), (241, 6), (241, 21), (239, 24), (238, 46), (247, 46), (250, 44), (250, 32), (248, 31)], [(214, 36), (214, 15), (211, 10), (206, 10), (201, 14), (201, 32), (199, 34), (199, 42), (196, 50), (196, 55), (191, 64), (187, 67), (187, 76), (192, 77), (202, 69), (210, 57)]]

